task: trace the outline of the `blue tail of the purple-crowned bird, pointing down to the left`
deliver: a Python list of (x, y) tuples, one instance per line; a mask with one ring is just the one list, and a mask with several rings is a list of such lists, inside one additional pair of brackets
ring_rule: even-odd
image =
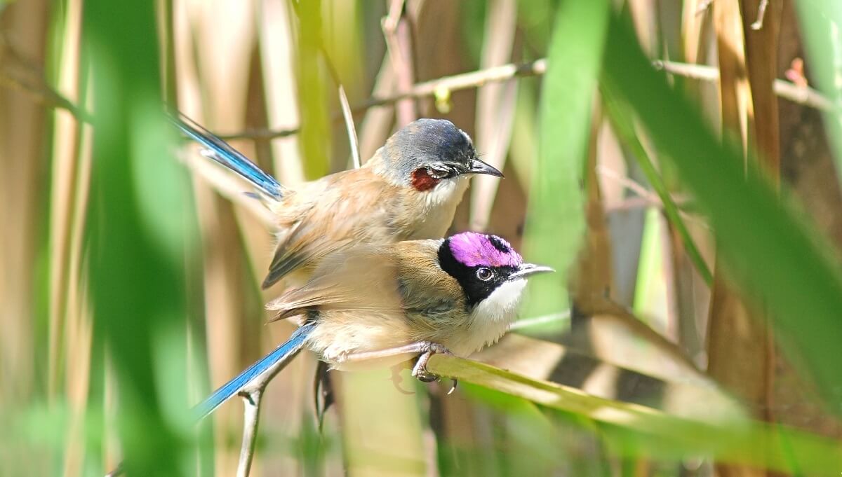
[(315, 326), (316, 323), (311, 322), (296, 329), (296, 331), (292, 333), (292, 336), (290, 336), (290, 339), (286, 340), (286, 343), (281, 344), (278, 348), (275, 348), (273, 352), (265, 355), (263, 358), (258, 360), (257, 363), (252, 364), (247, 370), (242, 371), (242, 373), (237, 375), (234, 379), (228, 381), (225, 385), (222, 385), (218, 390), (214, 391), (214, 393), (205, 399), (205, 401), (197, 404), (191, 411), (195, 415), (195, 420), (199, 421), (213, 412), (223, 402), (242, 391), (242, 389), (250, 384), (255, 378), (262, 375), (275, 365), (277, 365), (277, 368), (273, 370), (274, 373), (284, 369), (286, 364), (289, 364), (289, 362), (296, 357), (296, 354), (298, 354), (298, 352), (304, 347), (304, 341), (307, 336), (312, 333)]

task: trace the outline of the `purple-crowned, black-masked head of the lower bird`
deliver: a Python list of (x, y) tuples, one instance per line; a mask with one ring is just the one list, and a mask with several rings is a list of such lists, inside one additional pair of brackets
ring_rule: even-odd
[(472, 307), (505, 284), (553, 271), (524, 263), (509, 242), (497, 235), (476, 232), (457, 233), (445, 239), (439, 248), (439, 265), (459, 281)]

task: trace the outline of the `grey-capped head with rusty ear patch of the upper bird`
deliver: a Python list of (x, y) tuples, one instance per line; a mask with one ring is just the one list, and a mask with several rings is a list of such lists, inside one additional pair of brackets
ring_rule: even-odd
[(431, 191), (440, 182), (471, 174), (503, 174), (477, 158), (471, 138), (446, 119), (423, 118), (386, 140), (372, 164), (395, 184)]

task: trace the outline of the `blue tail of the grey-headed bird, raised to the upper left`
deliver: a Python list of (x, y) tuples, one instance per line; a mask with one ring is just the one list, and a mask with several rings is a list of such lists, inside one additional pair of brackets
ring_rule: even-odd
[(266, 174), (263, 170), (260, 170), (256, 164), (248, 160), (240, 151), (232, 148), (231, 144), (218, 138), (215, 134), (201, 127), (193, 119), (184, 116), (182, 113), (179, 113), (177, 118), (173, 116), (169, 116), (169, 118), (184, 134), (187, 134), (191, 139), (205, 146), (211, 153), (210, 158), (233, 170), (269, 197), (280, 199), (280, 197), (284, 196), (284, 186), (281, 186), (280, 182), (275, 180), (274, 177), (269, 176), (269, 174)]

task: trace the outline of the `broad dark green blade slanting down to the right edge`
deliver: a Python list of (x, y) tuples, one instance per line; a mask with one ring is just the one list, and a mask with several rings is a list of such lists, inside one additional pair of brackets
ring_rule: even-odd
[(695, 193), (729, 275), (755, 303), (766, 303), (791, 359), (806, 364), (829, 410), (842, 414), (842, 277), (829, 246), (789, 200), (778, 200), (759, 171), (749, 165), (744, 172), (739, 146), (722, 144), (697, 108), (653, 71), (625, 22), (612, 22), (605, 51), (604, 81)]

